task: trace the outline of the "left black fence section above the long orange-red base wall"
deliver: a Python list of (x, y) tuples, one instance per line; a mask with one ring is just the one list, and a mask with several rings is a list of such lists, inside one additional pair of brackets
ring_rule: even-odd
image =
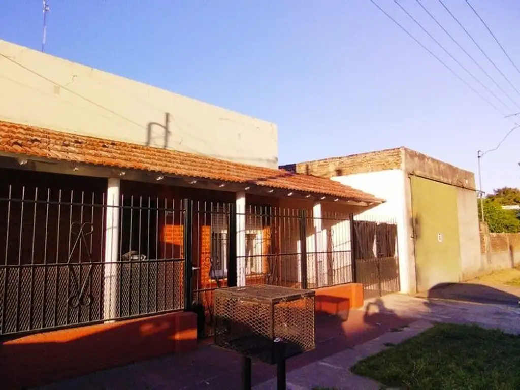
[[(0, 334), (184, 307), (183, 253), (161, 239), (168, 219), (183, 217), (180, 204), (123, 196), (109, 206), (103, 192), (0, 190)], [(107, 231), (109, 218), (119, 231)]]

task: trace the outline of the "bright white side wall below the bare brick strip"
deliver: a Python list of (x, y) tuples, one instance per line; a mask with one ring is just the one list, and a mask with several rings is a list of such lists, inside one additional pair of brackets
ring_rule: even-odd
[[(397, 248), (399, 254), (399, 281), (401, 292), (410, 291), (410, 266), (408, 257), (409, 232), (406, 213), (405, 189), (407, 185), (405, 172), (387, 170), (379, 172), (359, 173), (337, 176), (332, 180), (373, 194), (386, 202), (357, 215), (357, 219), (374, 222), (394, 220), (397, 224)], [(414, 274), (413, 274), (414, 275)]]

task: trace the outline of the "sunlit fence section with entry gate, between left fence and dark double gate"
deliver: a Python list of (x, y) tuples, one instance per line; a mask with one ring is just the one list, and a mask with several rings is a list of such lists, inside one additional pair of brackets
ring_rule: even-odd
[[(270, 284), (318, 288), (353, 281), (348, 215), (191, 201), (193, 309), (213, 332), (216, 289)], [(203, 321), (203, 322), (202, 322)]]

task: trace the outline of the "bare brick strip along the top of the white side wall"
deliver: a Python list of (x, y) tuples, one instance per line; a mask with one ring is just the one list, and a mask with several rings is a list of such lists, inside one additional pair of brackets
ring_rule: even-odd
[(280, 168), (319, 177), (334, 177), (356, 173), (378, 172), (401, 167), (402, 149), (386, 149), (345, 157), (301, 162)]

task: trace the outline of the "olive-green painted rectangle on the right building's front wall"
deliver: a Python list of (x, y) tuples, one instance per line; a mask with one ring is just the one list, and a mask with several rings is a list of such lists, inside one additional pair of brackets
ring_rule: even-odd
[(438, 283), (459, 282), (457, 188), (416, 176), (410, 180), (418, 291)]

